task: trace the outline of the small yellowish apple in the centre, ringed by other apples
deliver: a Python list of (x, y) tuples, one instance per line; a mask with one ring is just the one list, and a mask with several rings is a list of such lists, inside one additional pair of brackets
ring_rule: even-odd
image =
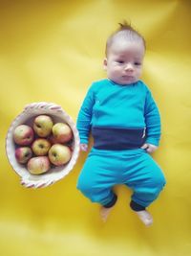
[(51, 143), (44, 138), (37, 138), (32, 142), (32, 151), (35, 155), (46, 155), (51, 148)]

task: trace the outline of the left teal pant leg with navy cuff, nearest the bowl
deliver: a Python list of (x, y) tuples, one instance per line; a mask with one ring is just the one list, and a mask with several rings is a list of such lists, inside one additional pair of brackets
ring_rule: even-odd
[(112, 188), (117, 184), (119, 159), (110, 151), (92, 150), (77, 180), (77, 189), (93, 202), (113, 206), (117, 196)]

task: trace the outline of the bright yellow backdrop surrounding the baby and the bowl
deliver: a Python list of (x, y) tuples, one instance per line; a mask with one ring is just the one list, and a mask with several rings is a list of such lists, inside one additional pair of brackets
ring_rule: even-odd
[[(0, 1), (0, 255), (191, 255), (191, 3), (189, 0)], [(54, 102), (76, 120), (92, 81), (105, 77), (105, 41), (130, 20), (145, 35), (142, 79), (158, 102), (162, 139), (154, 155), (167, 185), (146, 228), (117, 187), (106, 224), (75, 189), (86, 155), (51, 187), (26, 189), (7, 160), (5, 137), (24, 105)]]

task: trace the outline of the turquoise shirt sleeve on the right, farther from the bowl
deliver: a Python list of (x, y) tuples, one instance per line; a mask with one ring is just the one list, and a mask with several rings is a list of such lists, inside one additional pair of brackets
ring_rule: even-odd
[(145, 102), (146, 142), (159, 146), (161, 134), (159, 108), (148, 90)]

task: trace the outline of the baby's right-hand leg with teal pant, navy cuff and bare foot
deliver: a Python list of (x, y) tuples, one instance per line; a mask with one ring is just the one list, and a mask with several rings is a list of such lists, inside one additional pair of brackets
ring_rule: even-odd
[(137, 213), (140, 221), (150, 225), (153, 223), (153, 218), (146, 207), (159, 197), (165, 178), (158, 164), (146, 152), (134, 162), (135, 166), (136, 168), (129, 170), (130, 178), (126, 183), (133, 190), (130, 206)]

